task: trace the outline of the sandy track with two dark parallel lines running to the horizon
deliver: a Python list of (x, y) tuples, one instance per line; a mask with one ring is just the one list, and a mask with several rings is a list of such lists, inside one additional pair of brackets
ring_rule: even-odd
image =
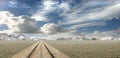
[(70, 58), (45, 42), (37, 42), (12, 58)]

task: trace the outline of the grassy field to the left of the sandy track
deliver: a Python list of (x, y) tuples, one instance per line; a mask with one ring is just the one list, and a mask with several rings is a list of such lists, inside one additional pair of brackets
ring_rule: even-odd
[(0, 58), (11, 58), (36, 41), (0, 41)]

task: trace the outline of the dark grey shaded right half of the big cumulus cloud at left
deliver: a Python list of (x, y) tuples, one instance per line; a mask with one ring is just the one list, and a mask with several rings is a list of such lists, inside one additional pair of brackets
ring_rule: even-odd
[(17, 27), (20, 29), (19, 32), (22, 33), (36, 33), (36, 21), (31, 19), (29, 16), (20, 16), (19, 20), (24, 19), (22, 24), (19, 24)]

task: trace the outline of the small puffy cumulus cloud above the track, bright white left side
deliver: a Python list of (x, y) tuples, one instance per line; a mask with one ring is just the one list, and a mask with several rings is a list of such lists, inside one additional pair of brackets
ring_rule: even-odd
[(54, 23), (47, 23), (40, 28), (40, 31), (46, 34), (67, 32), (67, 29), (61, 28)]

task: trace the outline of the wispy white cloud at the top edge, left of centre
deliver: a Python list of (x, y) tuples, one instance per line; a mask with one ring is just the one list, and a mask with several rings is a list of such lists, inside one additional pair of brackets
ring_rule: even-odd
[(50, 21), (52, 20), (49, 18), (50, 13), (66, 12), (70, 9), (70, 5), (67, 2), (61, 3), (57, 0), (43, 0), (41, 3), (37, 5), (38, 10), (32, 15), (32, 17), (37, 17), (37, 21)]

